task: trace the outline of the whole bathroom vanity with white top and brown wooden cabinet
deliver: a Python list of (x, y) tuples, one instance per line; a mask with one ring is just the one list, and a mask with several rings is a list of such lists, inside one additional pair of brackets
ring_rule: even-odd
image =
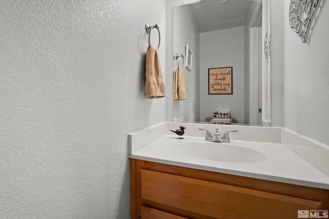
[[(239, 132), (231, 135), (227, 148), (257, 153), (245, 158), (239, 148), (225, 149), (221, 158), (211, 154), (221, 153), (216, 148), (225, 143), (203, 144), (205, 133), (196, 130), (228, 126), (181, 124), (192, 136), (177, 140), (167, 132), (174, 125), (160, 124), (129, 135), (131, 218), (297, 218), (303, 211), (326, 218), (329, 177), (319, 165), (297, 155), (291, 144), (282, 144), (289, 138), (301, 144), (299, 151), (306, 147), (281, 128), (236, 126)], [(262, 141), (252, 141), (254, 131)], [(197, 151), (198, 146), (210, 153)], [(327, 153), (326, 148), (314, 151)]]

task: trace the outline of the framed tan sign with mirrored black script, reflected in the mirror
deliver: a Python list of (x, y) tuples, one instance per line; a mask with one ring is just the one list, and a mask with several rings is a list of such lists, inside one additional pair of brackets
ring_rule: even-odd
[(232, 67), (208, 69), (208, 94), (232, 94)]

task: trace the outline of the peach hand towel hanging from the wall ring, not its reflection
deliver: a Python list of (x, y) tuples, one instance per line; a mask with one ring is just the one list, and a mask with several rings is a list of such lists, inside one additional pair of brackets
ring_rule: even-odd
[(145, 71), (145, 96), (150, 99), (166, 96), (165, 84), (163, 83), (158, 51), (149, 47), (146, 53)]

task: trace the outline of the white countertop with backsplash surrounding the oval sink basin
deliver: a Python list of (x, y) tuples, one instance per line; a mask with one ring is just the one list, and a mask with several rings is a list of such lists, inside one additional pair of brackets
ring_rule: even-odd
[[(262, 180), (329, 189), (329, 174), (327, 173), (327, 171), (322, 171), (329, 167), (329, 156), (326, 156), (329, 154), (329, 150), (327, 150), (327, 148), (319, 146), (319, 148), (314, 149), (312, 147), (315, 146), (313, 146), (312, 144), (312, 147), (310, 146), (310, 144), (302, 145), (302, 141), (298, 142), (297, 140), (294, 140), (294, 142), (298, 142), (298, 144), (301, 145), (300, 148), (298, 148), (299, 146), (291, 144), (290, 142), (287, 142), (287, 144), (282, 144), (281, 139), (280, 141), (275, 142), (234, 140), (235, 135), (232, 134), (231, 143), (225, 144), (232, 144), (234, 146), (241, 146), (255, 151), (259, 151), (263, 153), (266, 158), (264, 158), (262, 161), (255, 163), (212, 161), (192, 157), (180, 152), (178, 153), (175, 149), (175, 144), (182, 142), (205, 142), (205, 137), (195, 136), (196, 134), (192, 133), (193, 136), (184, 135), (184, 139), (178, 140), (177, 135), (170, 134), (167, 132), (170, 126), (171, 124), (161, 124), (160, 126), (151, 127), (150, 129), (145, 129), (141, 132), (130, 134), (132, 148), (130, 149), (129, 157), (138, 160), (151, 161), (181, 167), (259, 178)], [(175, 124), (175, 126), (177, 125)], [(198, 124), (197, 127), (200, 127), (200, 124)], [(212, 128), (213, 126), (210, 127)], [(232, 127), (230, 126), (230, 130), (232, 130), (231, 128)], [(244, 129), (246, 129), (247, 127), (235, 128), (241, 129), (239, 131), (243, 133)], [(193, 125), (191, 125), (191, 129), (194, 129)], [(161, 135), (161, 132), (163, 132), (164, 130), (166, 130), (167, 133)], [(277, 130), (270, 129), (267, 129), (265, 131), (268, 132), (268, 130), (274, 131), (274, 135), (277, 132)], [(280, 130), (280, 133), (281, 132), (282, 130)], [(144, 136), (144, 144), (141, 143), (140, 139), (136, 138), (136, 136), (134, 137), (134, 135), (145, 135), (145, 133), (147, 136), (156, 137), (150, 137), (152, 138), (152, 141), (147, 142), (148, 139)], [(202, 134), (205, 135), (205, 132), (202, 132)], [(267, 133), (267, 135), (272, 134)], [(293, 139), (293, 137), (291, 137), (290, 135), (291, 133), (285, 133), (284, 138), (289, 138), (290, 140)], [(264, 134), (264, 136), (266, 136), (266, 133)], [(134, 141), (138, 147), (137, 149), (134, 148)], [(218, 146), (220, 146), (220, 144), (223, 143), (211, 144), (218, 144)], [(302, 153), (303, 148), (306, 153), (304, 155)], [(313, 154), (310, 154), (309, 150), (315, 152)], [(296, 151), (299, 152), (297, 153)], [(322, 159), (320, 159), (320, 161), (317, 160), (317, 154), (322, 154)], [(312, 158), (312, 156), (314, 157)]]

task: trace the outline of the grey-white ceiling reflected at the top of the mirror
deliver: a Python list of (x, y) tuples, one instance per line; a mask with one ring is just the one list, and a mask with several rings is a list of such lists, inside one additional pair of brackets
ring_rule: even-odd
[(211, 0), (203, 0), (191, 4), (199, 32), (222, 30), (244, 26), (249, 22), (257, 6), (262, 0), (229, 0), (211, 4)]

